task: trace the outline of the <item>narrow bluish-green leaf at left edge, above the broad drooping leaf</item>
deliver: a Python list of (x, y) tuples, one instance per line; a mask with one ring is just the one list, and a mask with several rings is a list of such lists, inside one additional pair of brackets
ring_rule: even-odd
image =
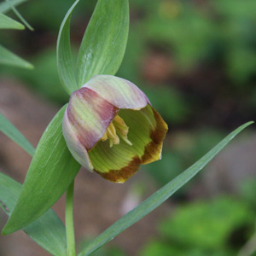
[(12, 123), (6, 119), (2, 113), (0, 113), (0, 131), (11, 138), (15, 143), (20, 145), (21, 148), (24, 148), (28, 154), (33, 155), (35, 153), (35, 148), (33, 148), (32, 144), (26, 140), (20, 131), (18, 131)]

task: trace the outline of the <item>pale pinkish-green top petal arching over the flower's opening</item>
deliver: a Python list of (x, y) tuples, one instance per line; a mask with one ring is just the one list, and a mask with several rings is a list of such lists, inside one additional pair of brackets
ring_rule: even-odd
[(96, 75), (82, 88), (96, 91), (116, 108), (141, 109), (150, 103), (135, 84), (111, 75)]

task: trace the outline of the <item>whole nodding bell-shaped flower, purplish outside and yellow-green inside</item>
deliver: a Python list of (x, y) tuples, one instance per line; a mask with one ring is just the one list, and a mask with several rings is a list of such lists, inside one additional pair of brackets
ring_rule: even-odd
[(97, 75), (73, 92), (62, 130), (82, 166), (124, 183), (141, 164), (160, 160), (167, 125), (135, 84)]

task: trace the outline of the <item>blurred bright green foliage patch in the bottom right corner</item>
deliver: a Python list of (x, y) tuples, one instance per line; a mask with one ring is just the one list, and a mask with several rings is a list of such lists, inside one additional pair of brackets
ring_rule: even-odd
[(195, 201), (160, 222), (160, 239), (140, 255), (236, 255), (252, 233), (254, 212), (246, 201), (222, 196)]

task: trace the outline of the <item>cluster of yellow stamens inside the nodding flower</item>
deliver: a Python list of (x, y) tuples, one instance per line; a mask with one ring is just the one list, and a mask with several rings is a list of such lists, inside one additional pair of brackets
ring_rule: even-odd
[(116, 115), (113, 119), (112, 123), (108, 125), (107, 130), (102, 136), (102, 141), (105, 142), (109, 140), (109, 147), (112, 148), (113, 145), (117, 145), (120, 143), (120, 138), (132, 146), (132, 143), (128, 140), (128, 131), (129, 127), (125, 124), (124, 119), (122, 119), (119, 115)]

